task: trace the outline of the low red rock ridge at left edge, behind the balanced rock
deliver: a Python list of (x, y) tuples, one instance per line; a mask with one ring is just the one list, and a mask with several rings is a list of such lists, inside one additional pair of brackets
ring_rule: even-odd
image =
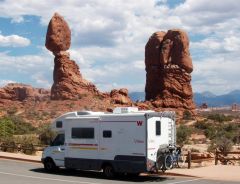
[(9, 83), (3, 88), (0, 88), (0, 100), (24, 101), (46, 100), (49, 99), (50, 91), (42, 88), (33, 88), (30, 85)]

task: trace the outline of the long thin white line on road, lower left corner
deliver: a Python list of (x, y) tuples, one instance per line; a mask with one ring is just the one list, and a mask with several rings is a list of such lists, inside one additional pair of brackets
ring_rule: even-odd
[(40, 179), (40, 180), (60, 181), (60, 182), (66, 182), (66, 183), (101, 184), (101, 183), (92, 183), (92, 182), (84, 182), (84, 181), (61, 180), (61, 179), (57, 179), (57, 178), (45, 178), (45, 177), (38, 177), (38, 176), (28, 176), (28, 175), (7, 173), (7, 172), (0, 172), (0, 174), (18, 176), (18, 177), (24, 177), (24, 178)]

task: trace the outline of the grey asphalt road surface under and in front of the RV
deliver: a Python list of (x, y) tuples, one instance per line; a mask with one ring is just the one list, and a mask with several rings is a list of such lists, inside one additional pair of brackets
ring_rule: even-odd
[(110, 184), (110, 183), (161, 183), (161, 184), (239, 184), (205, 180), (192, 177), (175, 177), (159, 175), (140, 175), (138, 177), (122, 176), (109, 180), (101, 172), (72, 171), (60, 169), (57, 173), (49, 174), (43, 170), (42, 164), (0, 159), (0, 184)]

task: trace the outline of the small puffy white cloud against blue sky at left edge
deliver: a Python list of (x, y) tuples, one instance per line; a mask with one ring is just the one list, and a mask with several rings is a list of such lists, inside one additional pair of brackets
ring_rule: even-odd
[(0, 47), (26, 47), (30, 44), (31, 41), (28, 38), (24, 38), (18, 35), (0, 35)]

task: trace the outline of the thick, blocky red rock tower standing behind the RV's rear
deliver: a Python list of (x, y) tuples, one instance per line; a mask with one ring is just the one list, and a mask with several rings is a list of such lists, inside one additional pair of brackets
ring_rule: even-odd
[(145, 47), (146, 100), (156, 108), (193, 110), (192, 59), (187, 34), (179, 29), (156, 32)]

